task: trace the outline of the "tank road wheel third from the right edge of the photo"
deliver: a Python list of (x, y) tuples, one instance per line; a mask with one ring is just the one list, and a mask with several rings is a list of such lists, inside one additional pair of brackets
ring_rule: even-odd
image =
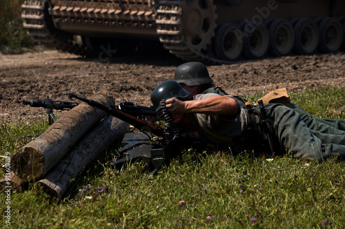
[(295, 42), (293, 27), (286, 20), (273, 21), (268, 29), (270, 54), (274, 57), (290, 54)]

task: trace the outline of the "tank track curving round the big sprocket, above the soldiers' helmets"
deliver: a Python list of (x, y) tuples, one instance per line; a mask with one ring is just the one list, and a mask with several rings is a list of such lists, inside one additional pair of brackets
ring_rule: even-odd
[[(210, 1), (212, 3), (212, 1)], [(157, 9), (157, 34), (159, 34), (159, 41), (164, 44), (164, 48), (170, 53), (180, 57), (186, 61), (201, 61), (207, 63), (230, 63), (217, 59), (212, 52), (210, 44), (214, 37), (212, 32), (211, 37), (204, 43), (204, 47), (195, 49), (186, 41), (186, 32), (183, 29), (182, 23), (182, 8), (185, 6), (185, 0), (160, 0), (158, 1), (159, 8)], [(215, 12), (215, 6), (213, 6)], [(215, 18), (217, 15), (215, 15)], [(215, 24), (212, 26), (215, 28)]]

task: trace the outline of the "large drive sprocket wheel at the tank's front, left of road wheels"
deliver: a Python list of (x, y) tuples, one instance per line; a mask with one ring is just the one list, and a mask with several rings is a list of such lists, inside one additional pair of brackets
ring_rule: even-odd
[(212, 0), (186, 0), (182, 6), (182, 32), (188, 48), (201, 52), (215, 36), (217, 14)]

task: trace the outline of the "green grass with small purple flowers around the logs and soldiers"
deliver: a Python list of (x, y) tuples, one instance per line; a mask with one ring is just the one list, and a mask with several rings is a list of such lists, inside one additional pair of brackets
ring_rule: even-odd
[[(318, 117), (344, 119), (345, 87), (305, 89), (291, 100)], [(261, 97), (250, 97), (256, 101)], [(313, 103), (311, 103), (313, 101)], [(326, 104), (326, 105), (325, 105)], [(1, 125), (1, 155), (14, 153), (48, 127), (46, 121)], [(50, 199), (30, 184), (6, 204), (9, 228), (344, 228), (345, 162), (322, 163), (242, 152), (196, 154), (148, 175), (144, 163), (116, 172), (108, 150)]]

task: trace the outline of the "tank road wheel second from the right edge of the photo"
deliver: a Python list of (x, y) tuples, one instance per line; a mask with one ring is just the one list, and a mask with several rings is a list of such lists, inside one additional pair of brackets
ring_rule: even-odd
[(319, 43), (317, 25), (311, 19), (299, 19), (295, 24), (295, 52), (313, 54)]

